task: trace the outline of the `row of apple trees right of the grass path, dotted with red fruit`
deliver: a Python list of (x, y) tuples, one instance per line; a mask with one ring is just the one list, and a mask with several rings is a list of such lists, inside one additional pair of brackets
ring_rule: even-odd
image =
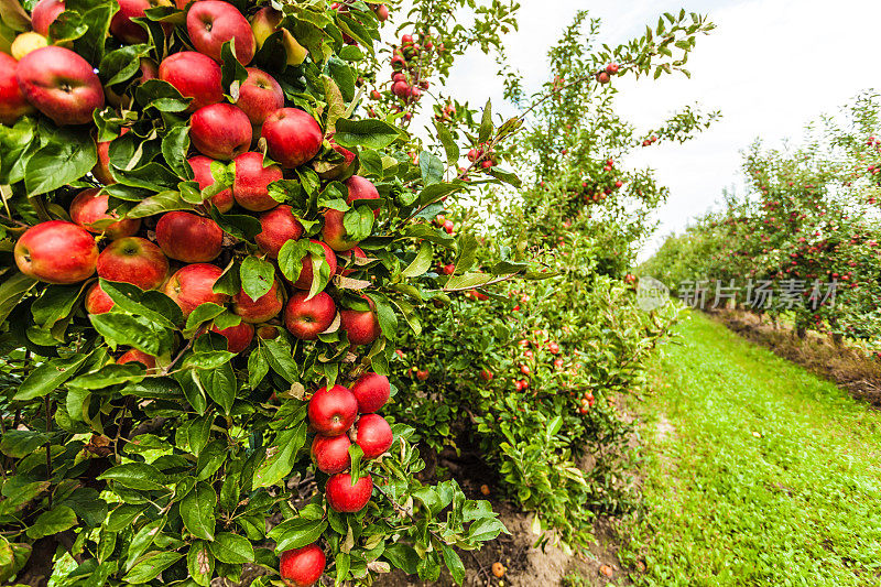
[(812, 124), (802, 144), (754, 143), (743, 160), (748, 193), (727, 194), (722, 210), (668, 238), (642, 272), (688, 303), (725, 304), (733, 286), (739, 304), (785, 314), (801, 335), (878, 341), (880, 108), (862, 95)]

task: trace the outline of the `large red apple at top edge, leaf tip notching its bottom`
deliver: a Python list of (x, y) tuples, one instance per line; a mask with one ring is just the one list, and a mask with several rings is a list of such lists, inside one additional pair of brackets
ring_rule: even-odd
[(189, 8), (186, 30), (196, 51), (221, 61), (224, 43), (232, 41), (236, 58), (248, 65), (254, 56), (254, 34), (236, 7), (220, 0), (202, 0)]

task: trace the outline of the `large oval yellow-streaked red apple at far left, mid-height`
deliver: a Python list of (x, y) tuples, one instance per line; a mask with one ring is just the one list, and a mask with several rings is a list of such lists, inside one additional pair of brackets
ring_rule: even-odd
[(14, 256), (28, 276), (46, 283), (78, 283), (95, 273), (98, 246), (85, 228), (50, 220), (25, 230), (15, 242)]

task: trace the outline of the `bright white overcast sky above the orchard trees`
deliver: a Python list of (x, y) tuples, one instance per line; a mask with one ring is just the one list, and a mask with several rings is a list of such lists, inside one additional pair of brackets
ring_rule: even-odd
[[(684, 76), (659, 81), (619, 81), (620, 110), (638, 128), (646, 128), (678, 107), (699, 102), (720, 109), (722, 121), (684, 145), (640, 150), (632, 165), (656, 170), (671, 189), (659, 211), (655, 238), (681, 231), (690, 218), (720, 202), (724, 187), (740, 180), (740, 151), (753, 139), (779, 143), (800, 138), (806, 122), (833, 112), (860, 90), (881, 89), (878, 66), (881, 2), (878, 0), (521, 0), (520, 31), (509, 35), (511, 63), (534, 90), (546, 79), (547, 47), (576, 10), (601, 18), (601, 41), (617, 44), (641, 34), (664, 11), (709, 14), (717, 29), (700, 37)], [(459, 62), (450, 94), (481, 105), (487, 97), (501, 105), (501, 84), (490, 59), (479, 52)], [(455, 91), (453, 91), (455, 88)]]

